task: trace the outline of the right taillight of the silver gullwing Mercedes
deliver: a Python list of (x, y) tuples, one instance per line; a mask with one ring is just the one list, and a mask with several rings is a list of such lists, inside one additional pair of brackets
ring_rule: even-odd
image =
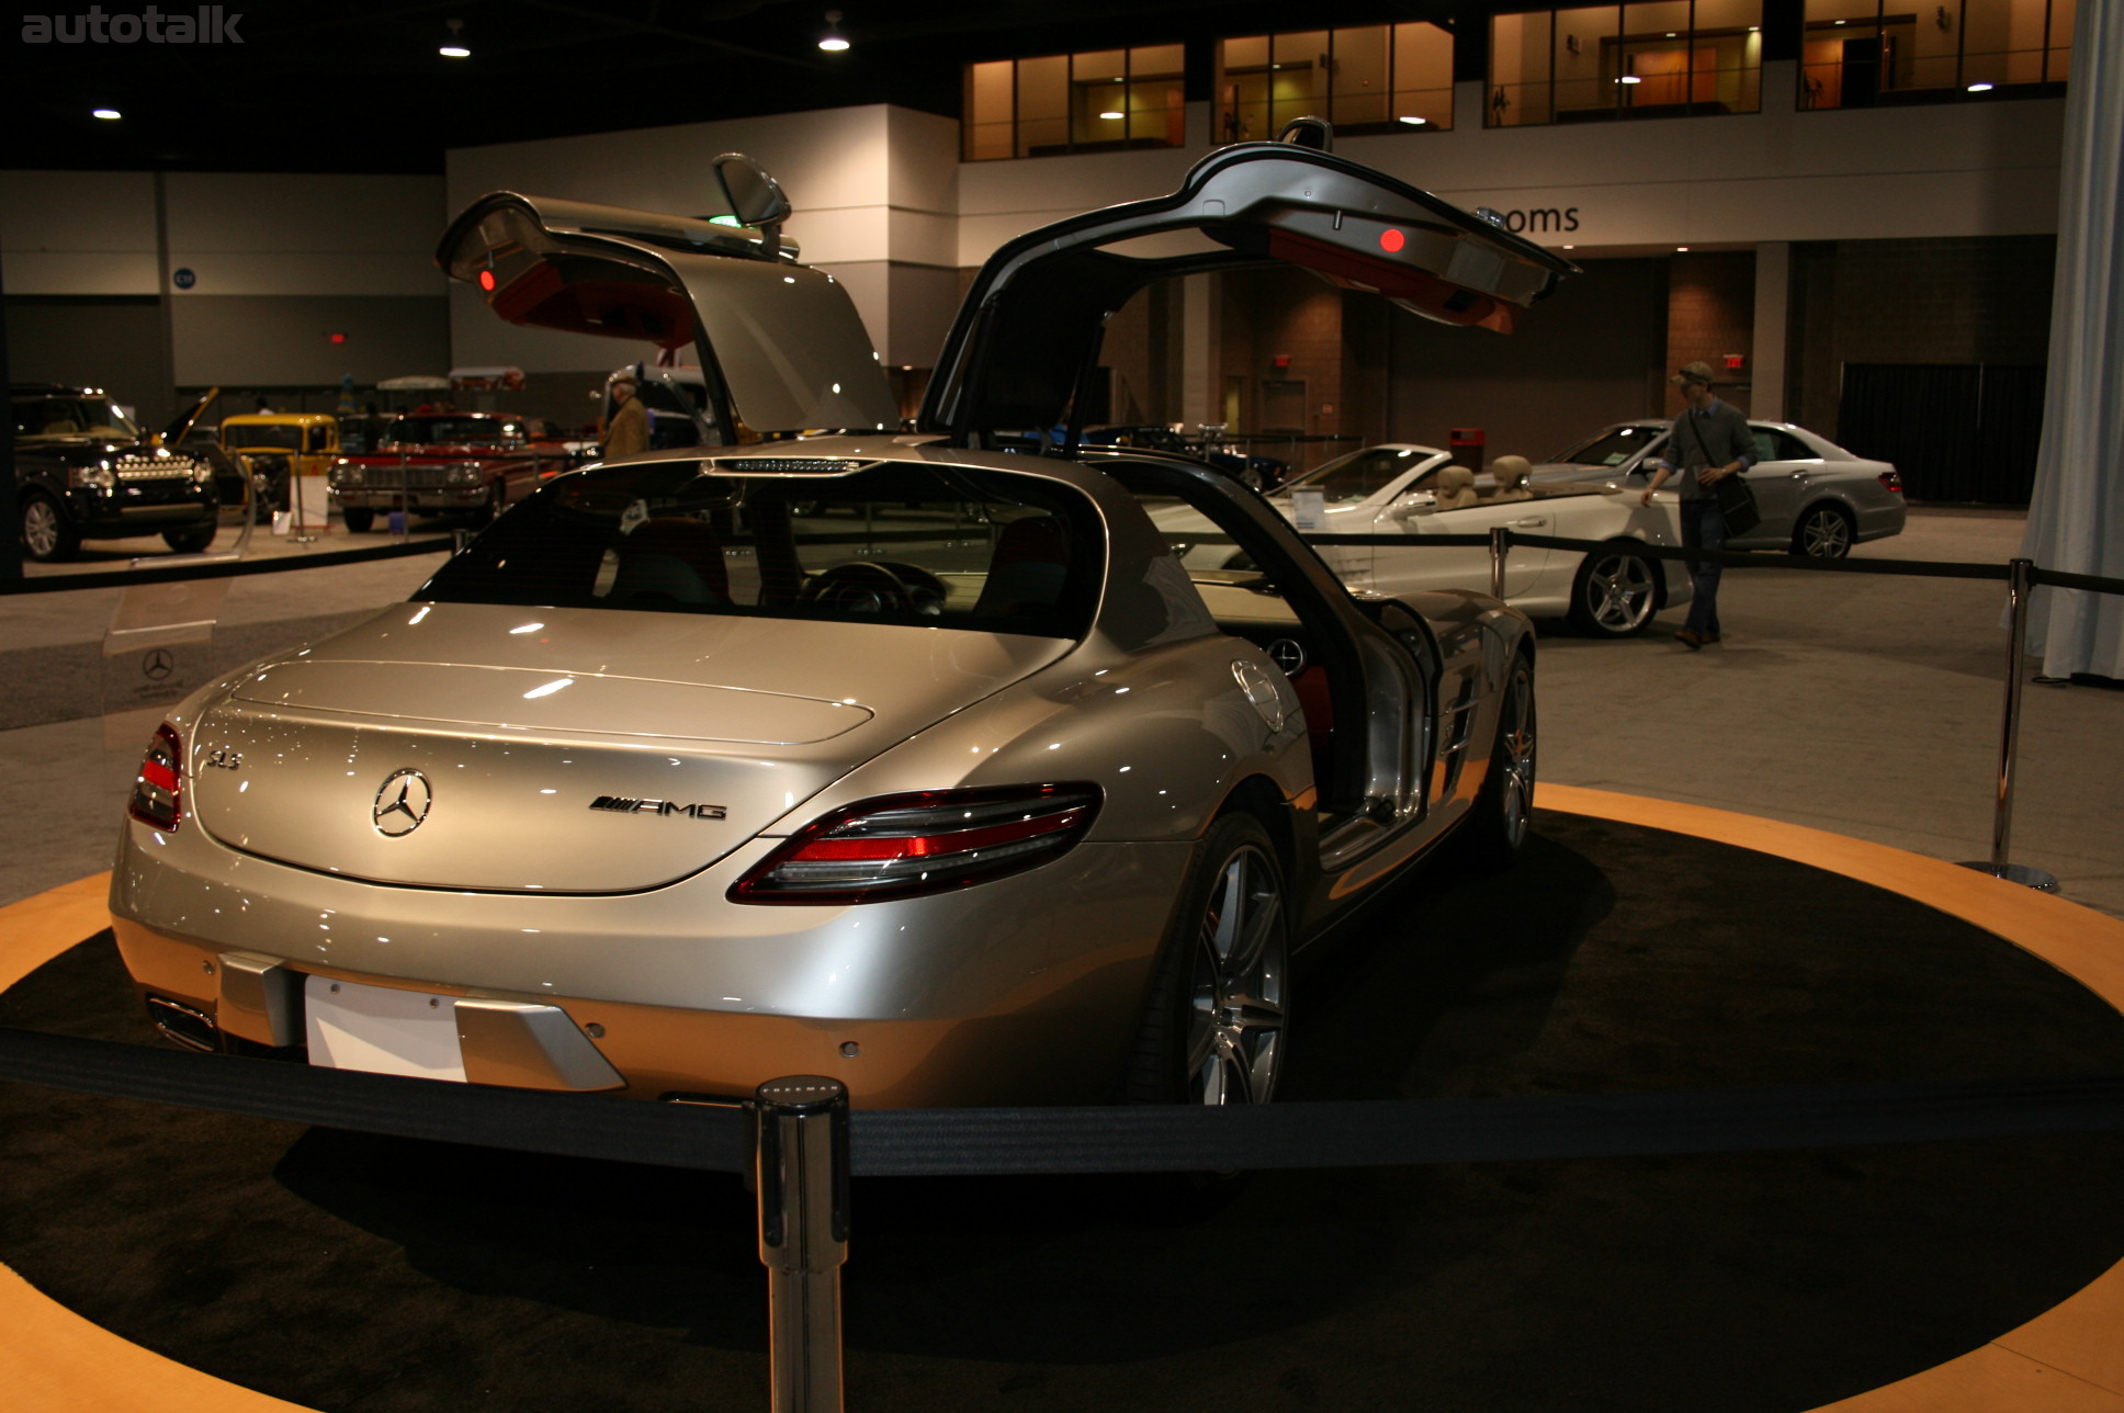
[(733, 903), (875, 903), (964, 888), (1068, 852), (1096, 784), (881, 795), (805, 824), (731, 886)]

